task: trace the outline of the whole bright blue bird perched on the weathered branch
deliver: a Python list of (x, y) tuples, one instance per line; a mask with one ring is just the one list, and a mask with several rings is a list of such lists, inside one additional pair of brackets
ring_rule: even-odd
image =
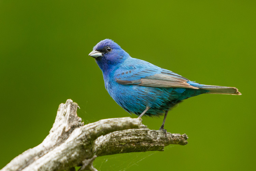
[(144, 60), (132, 58), (110, 39), (100, 41), (89, 56), (103, 73), (105, 88), (125, 111), (139, 117), (165, 115), (182, 100), (200, 94), (241, 95), (235, 87), (203, 85)]

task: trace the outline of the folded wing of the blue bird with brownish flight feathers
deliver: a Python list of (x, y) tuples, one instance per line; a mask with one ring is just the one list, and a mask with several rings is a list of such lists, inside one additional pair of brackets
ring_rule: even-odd
[(133, 69), (115, 74), (115, 81), (123, 85), (139, 85), (148, 87), (183, 87), (199, 89), (191, 86), (185, 77), (166, 69)]

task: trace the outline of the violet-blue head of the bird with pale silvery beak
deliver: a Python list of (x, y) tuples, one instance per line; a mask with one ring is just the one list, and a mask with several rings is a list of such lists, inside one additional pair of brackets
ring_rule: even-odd
[(117, 43), (110, 39), (100, 41), (94, 46), (89, 56), (95, 58), (102, 72), (112, 69), (130, 57)]

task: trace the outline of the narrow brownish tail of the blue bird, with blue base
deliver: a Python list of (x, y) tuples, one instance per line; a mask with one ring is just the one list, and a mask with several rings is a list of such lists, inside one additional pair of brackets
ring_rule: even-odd
[(206, 92), (208, 94), (242, 95), (236, 87), (204, 85), (193, 81), (188, 81), (187, 83), (199, 89), (208, 90), (209, 92)]

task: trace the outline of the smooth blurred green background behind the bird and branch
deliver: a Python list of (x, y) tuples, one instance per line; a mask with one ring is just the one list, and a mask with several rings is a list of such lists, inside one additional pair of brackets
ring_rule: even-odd
[[(67, 99), (85, 124), (130, 116), (88, 56), (109, 38), (134, 58), (243, 95), (185, 100), (165, 128), (186, 133), (188, 145), (99, 157), (98, 170), (255, 169), (255, 4), (0, 0), (0, 168), (43, 141)], [(150, 129), (161, 123), (143, 118)]]

